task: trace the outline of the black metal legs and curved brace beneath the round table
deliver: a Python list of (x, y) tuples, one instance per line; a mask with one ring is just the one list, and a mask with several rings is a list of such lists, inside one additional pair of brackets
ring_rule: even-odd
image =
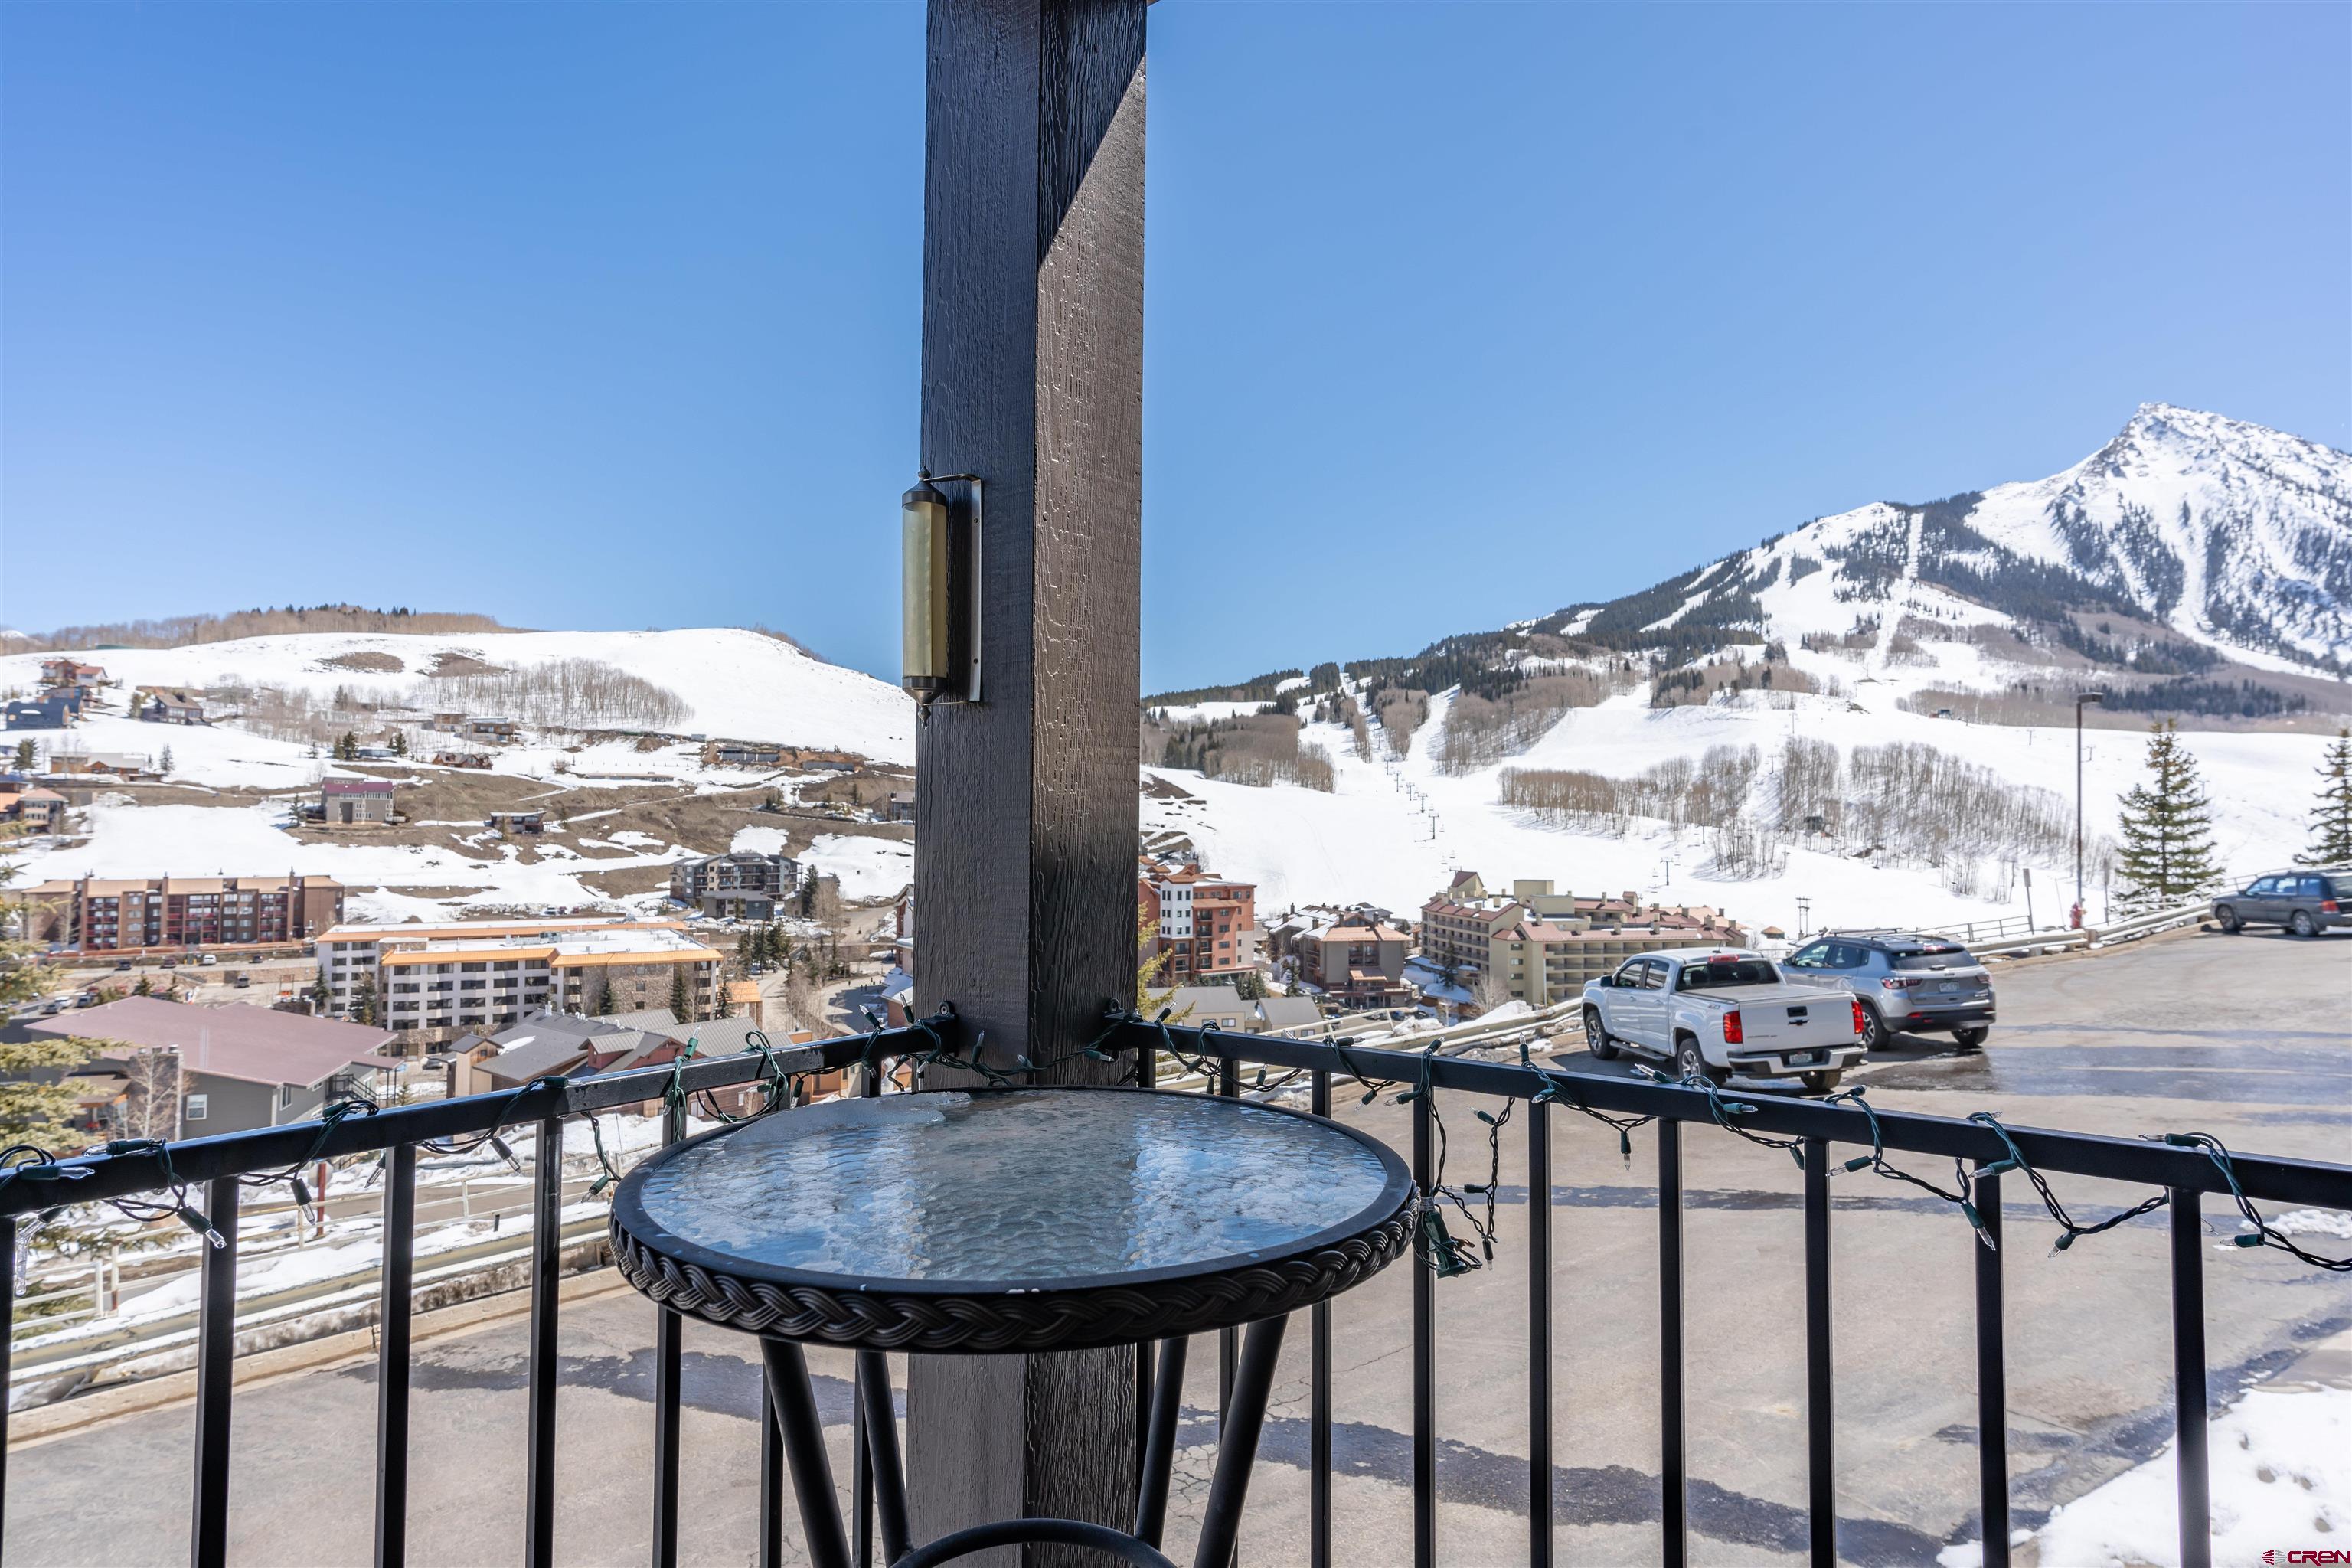
[[(1258, 1462), (1258, 1434), (1265, 1429), (1265, 1403), (1275, 1392), (1275, 1361), (1282, 1354), (1287, 1316), (1261, 1319), (1242, 1335), (1242, 1359), (1232, 1375), (1232, 1396), (1216, 1441), (1216, 1476), (1209, 1481), (1209, 1507), (1200, 1521), (1192, 1568), (1225, 1568), (1242, 1528), (1242, 1502), (1249, 1495), (1249, 1472)], [(809, 1359), (793, 1340), (760, 1340), (767, 1352), (767, 1389), (776, 1410), (793, 1490), (800, 1495), (800, 1528), (814, 1568), (851, 1568), (849, 1533), (842, 1505), (833, 1490), (833, 1462), (826, 1458), (826, 1427), (816, 1415), (809, 1387)], [(1004, 1519), (941, 1535), (915, 1547), (908, 1535), (906, 1467), (898, 1460), (898, 1418), (889, 1396), (889, 1361), (877, 1349), (858, 1352), (858, 1401), (863, 1408), (866, 1453), (873, 1462), (875, 1516), (882, 1523), (882, 1556), (891, 1568), (934, 1568), (990, 1547), (1056, 1542), (1091, 1547), (1136, 1568), (1176, 1568), (1160, 1537), (1167, 1530), (1169, 1476), (1176, 1467), (1176, 1418), (1183, 1403), (1185, 1340), (1160, 1342), (1160, 1375), (1152, 1382), (1152, 1408), (1145, 1427), (1143, 1476), (1136, 1495), (1136, 1528), (1117, 1530), (1082, 1519)]]

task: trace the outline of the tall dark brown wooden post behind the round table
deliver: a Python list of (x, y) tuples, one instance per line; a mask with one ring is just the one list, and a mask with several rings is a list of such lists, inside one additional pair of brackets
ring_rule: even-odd
[[(1143, 5), (929, 16), (922, 463), (988, 487), (985, 701), (941, 703), (917, 741), (915, 973), (917, 1004), (953, 999), (1004, 1065), (1075, 1051), (1134, 997)], [(908, 1385), (917, 1540), (1023, 1514), (1131, 1523), (1129, 1352), (917, 1356)]]

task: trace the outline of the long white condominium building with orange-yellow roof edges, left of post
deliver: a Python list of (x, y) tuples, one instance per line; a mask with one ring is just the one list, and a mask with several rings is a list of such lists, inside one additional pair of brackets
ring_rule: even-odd
[(666, 1006), (680, 973), (696, 1016), (708, 1018), (720, 1001), (720, 964), (715, 950), (666, 919), (334, 926), (318, 938), (332, 1011), (355, 1011), (372, 987), (376, 1016), (395, 1034), (506, 1027), (534, 1009)]

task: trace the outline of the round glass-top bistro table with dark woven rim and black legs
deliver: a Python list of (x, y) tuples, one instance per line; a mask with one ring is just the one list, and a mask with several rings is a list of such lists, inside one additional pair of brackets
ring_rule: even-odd
[[(929, 1568), (1065, 1542), (1160, 1554), (1185, 1338), (1249, 1324), (1195, 1568), (1225, 1568), (1287, 1314), (1411, 1246), (1411, 1175), (1381, 1143), (1294, 1110), (1148, 1088), (851, 1098), (689, 1138), (612, 1206), (623, 1276), (673, 1312), (762, 1338), (816, 1568), (849, 1542), (802, 1345), (858, 1352), (882, 1552)], [(1160, 1340), (1136, 1528), (1007, 1519), (915, 1547), (882, 1352), (1023, 1354)]]

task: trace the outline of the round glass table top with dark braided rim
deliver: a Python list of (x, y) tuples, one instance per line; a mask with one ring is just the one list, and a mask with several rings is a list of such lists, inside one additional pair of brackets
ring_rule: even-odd
[[(1404, 1161), (1324, 1117), (1197, 1093), (1002, 1088), (849, 1098), (703, 1133), (621, 1180), (612, 1229), (640, 1288), (689, 1281), (696, 1305), (680, 1309), (873, 1342), (870, 1326), (840, 1321), (809, 1333), (793, 1305), (858, 1316), (870, 1307), (844, 1298), (953, 1298), (948, 1312), (1035, 1316), (1042, 1298), (1108, 1291), (1249, 1321), (1232, 1316), (1247, 1293), (1204, 1281), (1312, 1260), (1348, 1274), (1329, 1295), (1402, 1251), (1411, 1211)], [(1334, 1262), (1369, 1232), (1371, 1267), (1362, 1246)], [(1265, 1281), (1254, 1288), (1265, 1295)]]

